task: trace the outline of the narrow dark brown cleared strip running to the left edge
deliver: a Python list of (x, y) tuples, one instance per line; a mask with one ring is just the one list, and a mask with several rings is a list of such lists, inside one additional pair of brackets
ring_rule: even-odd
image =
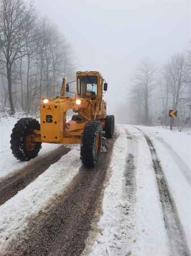
[(32, 163), (28, 163), (27, 166), (19, 169), (14, 175), (0, 181), (0, 205), (26, 188), (29, 183), (43, 174), (51, 164), (56, 163), (69, 151), (69, 147), (58, 147), (56, 150), (34, 159)]

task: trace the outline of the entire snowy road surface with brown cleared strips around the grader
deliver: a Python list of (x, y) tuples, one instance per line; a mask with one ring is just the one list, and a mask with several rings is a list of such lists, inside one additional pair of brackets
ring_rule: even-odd
[(0, 125), (0, 255), (190, 255), (189, 133), (118, 125), (96, 170), (77, 146), (39, 171), (54, 146), (20, 164), (8, 146), (14, 121)]

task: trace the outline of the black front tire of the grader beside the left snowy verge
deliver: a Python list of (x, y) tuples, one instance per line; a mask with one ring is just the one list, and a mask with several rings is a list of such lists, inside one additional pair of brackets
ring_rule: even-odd
[(16, 159), (28, 161), (39, 154), (41, 142), (32, 139), (34, 130), (40, 130), (40, 123), (33, 118), (22, 118), (15, 124), (10, 143), (12, 154)]

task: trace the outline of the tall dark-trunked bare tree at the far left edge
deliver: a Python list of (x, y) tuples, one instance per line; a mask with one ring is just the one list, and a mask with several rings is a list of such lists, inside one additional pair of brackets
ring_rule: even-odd
[(24, 56), (23, 48), (26, 46), (26, 26), (34, 20), (32, 5), (27, 7), (23, 0), (0, 1), (0, 52), (4, 58), (1, 63), (6, 65), (6, 77), (9, 89), (11, 113), (14, 113), (12, 100), (12, 65)]

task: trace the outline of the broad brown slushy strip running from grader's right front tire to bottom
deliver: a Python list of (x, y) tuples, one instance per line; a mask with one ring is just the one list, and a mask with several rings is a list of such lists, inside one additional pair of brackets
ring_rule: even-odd
[(109, 151), (101, 154), (98, 167), (88, 170), (81, 167), (67, 191), (28, 220), (22, 241), (19, 238), (12, 240), (3, 255), (78, 256), (82, 253), (97, 208), (101, 213), (104, 180), (113, 143), (114, 140), (109, 140)]

